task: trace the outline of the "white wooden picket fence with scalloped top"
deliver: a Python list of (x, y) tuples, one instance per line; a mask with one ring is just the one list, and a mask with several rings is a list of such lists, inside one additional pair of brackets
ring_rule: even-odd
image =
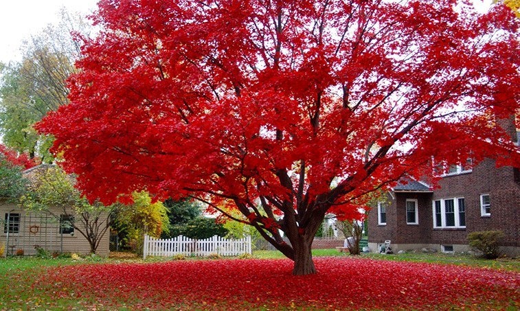
[(221, 256), (238, 256), (251, 254), (251, 237), (241, 240), (227, 240), (218, 235), (205, 240), (192, 240), (183, 235), (177, 238), (159, 240), (144, 235), (143, 258), (146, 256), (207, 256), (218, 254)]

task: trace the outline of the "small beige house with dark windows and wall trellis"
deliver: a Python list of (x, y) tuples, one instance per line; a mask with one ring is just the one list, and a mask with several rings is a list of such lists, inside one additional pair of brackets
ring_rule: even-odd
[[(45, 166), (38, 165), (23, 172), (31, 180), (38, 170), (45, 170)], [(0, 202), (0, 245), (5, 246), (4, 255), (36, 255), (36, 248), (41, 247), (50, 253), (76, 253), (87, 255), (90, 253), (90, 244), (87, 238), (70, 225), (76, 216), (65, 213), (63, 209), (52, 209), (52, 214), (27, 211), (23, 207)], [(70, 219), (72, 215), (73, 219)], [(101, 218), (106, 221), (106, 217)], [(80, 227), (79, 222), (76, 223)], [(110, 232), (106, 230), (100, 240), (97, 255), (109, 255)]]

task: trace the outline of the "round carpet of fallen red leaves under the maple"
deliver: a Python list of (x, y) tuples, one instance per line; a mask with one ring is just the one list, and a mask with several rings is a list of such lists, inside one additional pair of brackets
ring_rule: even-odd
[[(410, 309), (519, 306), (520, 274), (441, 264), (319, 257), (316, 275), (289, 260), (175, 261), (51, 268), (33, 287), (132, 308)], [(90, 302), (89, 302), (90, 301)]]

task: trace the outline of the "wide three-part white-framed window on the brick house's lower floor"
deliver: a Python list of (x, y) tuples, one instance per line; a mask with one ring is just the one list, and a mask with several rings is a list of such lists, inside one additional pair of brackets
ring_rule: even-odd
[(466, 228), (464, 198), (434, 200), (433, 228)]

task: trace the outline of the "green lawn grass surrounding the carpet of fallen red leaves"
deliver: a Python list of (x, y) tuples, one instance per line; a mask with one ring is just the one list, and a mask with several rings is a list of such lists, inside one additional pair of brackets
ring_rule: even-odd
[[(336, 249), (313, 250), (313, 257), (339, 256), (348, 257), (347, 253), (339, 253)], [(279, 251), (254, 251), (253, 258), (258, 259), (278, 259), (284, 258)], [(499, 270), (509, 270), (520, 273), (520, 260), (499, 258), (497, 260), (484, 260), (471, 255), (444, 254), (444, 253), (403, 253), (395, 255), (383, 255), (376, 253), (363, 253), (360, 258), (375, 260), (389, 260), (396, 262), (425, 262), (431, 264), (449, 264), (472, 266), (478, 268), (490, 268)], [(67, 299), (56, 299), (45, 292), (38, 292), (32, 288), (35, 279), (45, 275), (48, 269), (56, 266), (84, 265), (84, 264), (118, 264), (128, 263), (148, 263), (163, 262), (172, 260), (171, 258), (151, 257), (142, 260), (135, 255), (128, 253), (114, 253), (109, 258), (87, 257), (82, 260), (71, 258), (52, 258), (41, 259), (38, 257), (8, 257), (0, 258), (0, 310), (12, 309), (47, 309), (46, 306), (58, 306), (60, 309), (81, 308), (76, 304), (74, 297)], [(188, 257), (187, 260), (208, 260), (201, 258)], [(28, 304), (30, 303), (30, 304)], [(47, 304), (47, 305), (46, 305)], [(128, 306), (133, 309), (132, 306)], [(53, 307), (54, 308), (54, 307)], [(203, 309), (203, 308), (201, 308)]]

